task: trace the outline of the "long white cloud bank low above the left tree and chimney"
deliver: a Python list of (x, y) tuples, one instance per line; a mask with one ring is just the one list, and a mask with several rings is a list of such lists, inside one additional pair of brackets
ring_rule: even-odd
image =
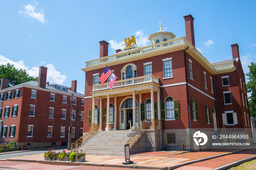
[[(29, 67), (25, 66), (25, 63), (23, 62), (23, 60), (15, 62), (4, 57), (3, 55), (0, 55), (0, 65), (2, 64), (6, 65), (7, 63), (13, 64), (14, 67), (18, 70), (19, 69), (26, 70), (29, 76), (38, 77), (39, 67), (33, 66), (30, 69)], [(60, 72), (58, 72), (52, 64), (50, 63), (46, 64), (44, 61), (42, 61), (40, 65), (45, 65), (46, 67), (48, 67), (46, 81), (49, 81), (51, 84), (60, 84), (60, 85), (62, 85), (65, 82), (67, 77), (65, 75), (62, 75)]]

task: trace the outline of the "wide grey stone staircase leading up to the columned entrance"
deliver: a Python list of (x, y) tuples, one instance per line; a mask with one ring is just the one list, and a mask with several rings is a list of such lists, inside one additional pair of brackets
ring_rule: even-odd
[(124, 145), (135, 130), (98, 131), (78, 148), (88, 155), (124, 156)]

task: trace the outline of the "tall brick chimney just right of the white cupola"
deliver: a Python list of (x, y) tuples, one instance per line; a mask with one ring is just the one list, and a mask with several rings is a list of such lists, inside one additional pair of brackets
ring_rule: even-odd
[(195, 47), (194, 18), (191, 14), (184, 16), (186, 38)]

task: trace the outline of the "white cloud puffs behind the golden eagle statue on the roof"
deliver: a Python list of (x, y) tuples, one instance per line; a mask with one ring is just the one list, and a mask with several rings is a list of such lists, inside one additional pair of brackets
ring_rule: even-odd
[[(131, 35), (129, 37), (131, 37)], [(135, 40), (138, 47), (144, 47), (144, 46), (150, 45), (148, 36), (143, 33), (143, 29), (135, 32)], [(110, 44), (110, 47), (114, 50), (124, 49), (124, 47), (122, 47), (122, 45), (124, 44), (124, 41), (117, 42), (116, 40), (111, 39), (109, 40), (109, 44)]]

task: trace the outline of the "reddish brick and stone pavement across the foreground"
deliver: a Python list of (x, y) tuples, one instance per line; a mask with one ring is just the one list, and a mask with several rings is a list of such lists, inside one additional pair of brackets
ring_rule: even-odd
[[(123, 165), (123, 156), (86, 155), (86, 162), (44, 161), (44, 154), (12, 157), (0, 160), (0, 167), (19, 169), (195, 169), (211, 170), (241, 159), (256, 159), (256, 149), (211, 149), (205, 151), (142, 152), (131, 155), (130, 165)], [(43, 165), (42, 165), (43, 164)], [(53, 166), (54, 165), (54, 166)], [(51, 167), (50, 167), (51, 166)], [(230, 165), (229, 165), (230, 166)], [(112, 167), (112, 168), (110, 168)]]

